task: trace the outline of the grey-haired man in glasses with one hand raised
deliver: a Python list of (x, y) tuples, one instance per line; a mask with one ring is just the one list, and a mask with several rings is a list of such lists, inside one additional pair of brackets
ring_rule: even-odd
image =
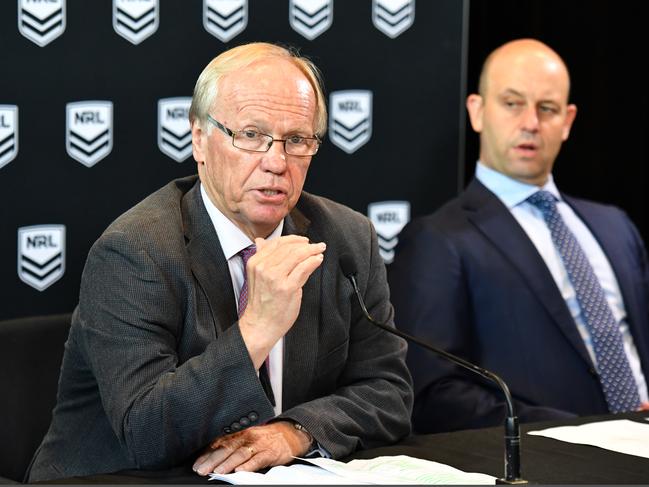
[(90, 251), (30, 481), (253, 471), (410, 432), (405, 343), (363, 320), (339, 270), (357, 256), (368, 306), (391, 320), (374, 230), (302, 191), (326, 127), (315, 66), (270, 44), (226, 51), (190, 119), (198, 177), (149, 196)]

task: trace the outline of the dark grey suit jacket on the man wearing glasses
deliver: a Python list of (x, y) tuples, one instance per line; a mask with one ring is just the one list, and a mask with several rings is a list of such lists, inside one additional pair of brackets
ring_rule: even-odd
[[(339, 255), (354, 255), (371, 312), (392, 321), (369, 220), (304, 193), (284, 233), (327, 250), (286, 335), (281, 417), (334, 457), (407, 435), (406, 345), (363, 320), (339, 270)], [(172, 467), (273, 416), (197, 177), (173, 181), (118, 218), (89, 253), (58, 402), (29, 480)]]

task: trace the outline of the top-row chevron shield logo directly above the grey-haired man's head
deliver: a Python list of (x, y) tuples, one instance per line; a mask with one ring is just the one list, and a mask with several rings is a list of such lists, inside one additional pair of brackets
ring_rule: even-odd
[(248, 25), (248, 0), (203, 0), (203, 27), (228, 42)]

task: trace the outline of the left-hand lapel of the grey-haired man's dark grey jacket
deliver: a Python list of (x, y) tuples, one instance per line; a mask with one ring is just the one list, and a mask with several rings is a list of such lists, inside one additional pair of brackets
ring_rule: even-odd
[(182, 212), (192, 273), (205, 293), (219, 334), (237, 321), (236, 301), (228, 262), (203, 204), (198, 182), (184, 196)]

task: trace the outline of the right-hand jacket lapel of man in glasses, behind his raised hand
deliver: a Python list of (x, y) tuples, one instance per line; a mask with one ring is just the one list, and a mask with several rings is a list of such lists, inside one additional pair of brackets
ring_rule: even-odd
[[(286, 217), (283, 234), (304, 235), (312, 242), (322, 241), (322, 236), (312, 232), (310, 221), (297, 207)], [(322, 265), (304, 284), (300, 313), (284, 339), (284, 377), (282, 378), (284, 410), (304, 402), (305, 394), (311, 387), (318, 351), (321, 280)]]

